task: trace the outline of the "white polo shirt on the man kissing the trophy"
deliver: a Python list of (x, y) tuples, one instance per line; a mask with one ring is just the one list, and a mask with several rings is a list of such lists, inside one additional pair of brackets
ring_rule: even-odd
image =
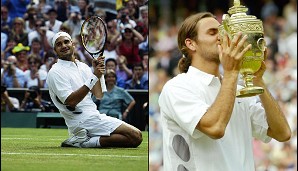
[(192, 66), (165, 84), (159, 97), (164, 170), (255, 170), (253, 137), (271, 140), (264, 108), (256, 97), (236, 98), (222, 138), (215, 140), (195, 129), (220, 87), (218, 77)]

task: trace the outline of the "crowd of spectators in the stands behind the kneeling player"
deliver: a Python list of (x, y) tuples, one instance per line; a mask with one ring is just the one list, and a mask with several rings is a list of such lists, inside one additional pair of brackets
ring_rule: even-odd
[[(117, 0), (114, 8), (99, 6), (98, 0), (1, 0), (1, 87), (46, 89), (47, 73), (58, 57), (53, 36), (64, 31), (71, 35), (75, 57), (92, 68), (92, 56), (81, 41), (81, 26), (90, 16), (101, 17), (108, 31), (105, 61), (113, 62), (117, 90), (148, 90), (148, 6), (144, 0)], [(108, 4), (109, 5), (109, 4)], [(110, 64), (106, 63), (106, 67)], [(8, 93), (5, 94), (9, 97)], [(109, 97), (116, 95), (109, 95)], [(118, 97), (119, 95), (117, 95)], [(1, 96), (2, 97), (2, 96)], [(23, 99), (30, 100), (27, 93)], [(33, 99), (40, 99), (37, 95)], [(122, 97), (123, 98), (123, 97)], [(1, 104), (5, 104), (1, 98)], [(108, 98), (103, 98), (108, 99)], [(40, 100), (39, 100), (40, 101)], [(9, 109), (24, 109), (19, 103)], [(105, 104), (104, 102), (102, 104)], [(113, 104), (111, 104), (113, 105)], [(128, 104), (127, 104), (128, 105)], [(42, 103), (38, 103), (44, 111)], [(98, 106), (98, 108), (100, 108)], [(132, 108), (132, 106), (130, 107)], [(121, 111), (127, 115), (125, 112)], [(122, 116), (121, 116), (122, 117)]]

